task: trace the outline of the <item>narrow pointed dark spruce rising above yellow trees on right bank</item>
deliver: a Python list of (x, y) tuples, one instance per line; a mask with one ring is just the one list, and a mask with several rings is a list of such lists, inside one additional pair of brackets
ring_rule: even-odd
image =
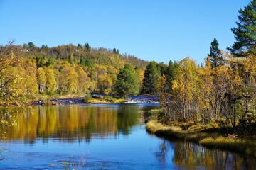
[(210, 63), (213, 68), (218, 67), (223, 64), (223, 57), (221, 56), (220, 49), (218, 48), (219, 44), (216, 38), (213, 39), (213, 42), (210, 43)]

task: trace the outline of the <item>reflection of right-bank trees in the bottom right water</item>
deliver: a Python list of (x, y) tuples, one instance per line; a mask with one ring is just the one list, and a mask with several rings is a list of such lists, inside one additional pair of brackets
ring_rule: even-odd
[(167, 140), (163, 140), (159, 145), (159, 151), (154, 152), (159, 162), (167, 163), (171, 145), (174, 164), (182, 169), (254, 169), (256, 167), (255, 158), (249, 159), (218, 149), (206, 149), (191, 142)]

